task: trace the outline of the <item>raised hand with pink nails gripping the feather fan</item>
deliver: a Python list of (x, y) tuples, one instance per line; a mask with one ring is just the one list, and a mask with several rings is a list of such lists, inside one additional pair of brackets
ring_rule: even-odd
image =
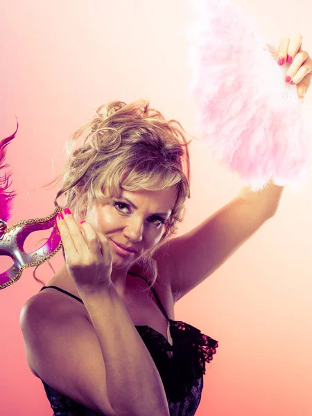
[(279, 61), (280, 58), (284, 58), (284, 62), (287, 62), (287, 58), (288, 62), (292, 62), (286, 76), (291, 78), (288, 80), (288, 83), (293, 82), (297, 85), (298, 98), (303, 101), (311, 85), (312, 59), (308, 52), (302, 50), (301, 46), (302, 35), (300, 33), (296, 33), (291, 39), (281, 37), (277, 59), (279, 64), (282, 62)]

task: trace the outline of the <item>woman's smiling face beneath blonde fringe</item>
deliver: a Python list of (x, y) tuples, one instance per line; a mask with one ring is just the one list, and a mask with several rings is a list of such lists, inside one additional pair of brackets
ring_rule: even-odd
[[(159, 242), (174, 204), (173, 187), (162, 191), (120, 189), (119, 198), (112, 197), (105, 205), (94, 201), (85, 220), (109, 241), (114, 268), (123, 268)], [(121, 254), (112, 241), (134, 248), (135, 254), (130, 257)]]

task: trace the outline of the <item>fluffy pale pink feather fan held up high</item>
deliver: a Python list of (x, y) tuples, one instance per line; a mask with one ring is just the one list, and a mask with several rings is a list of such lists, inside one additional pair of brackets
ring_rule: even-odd
[(295, 191), (308, 177), (309, 114), (285, 83), (277, 48), (253, 17), (225, 0), (189, 1), (187, 29), (196, 133), (214, 157), (253, 191), (272, 182)]

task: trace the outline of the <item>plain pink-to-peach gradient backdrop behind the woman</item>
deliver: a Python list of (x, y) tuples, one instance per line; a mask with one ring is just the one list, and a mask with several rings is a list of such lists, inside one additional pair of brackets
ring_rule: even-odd
[[(235, 0), (255, 15), (276, 46), (303, 35), (312, 54), (306, 1)], [(187, 39), (193, 18), (186, 0), (17, 1), (1, 4), (0, 137), (19, 132), (7, 160), (17, 189), (10, 225), (53, 209), (56, 188), (40, 189), (60, 171), (71, 133), (112, 100), (150, 98), (167, 119), (193, 133), (196, 107), (187, 94)], [(226, 74), (225, 74), (226, 76)], [(257, 77), (257, 68), (254, 68)], [(311, 107), (312, 92), (304, 105)], [(193, 141), (191, 200), (180, 234), (236, 196), (243, 184)], [(196, 415), (312, 414), (311, 172), (295, 195), (284, 191), (268, 221), (214, 275), (177, 303), (184, 320), (219, 341), (207, 365)], [(31, 236), (28, 248), (46, 236)], [(52, 260), (58, 270), (62, 256)], [(1, 259), (1, 271), (8, 266)], [(2, 270), (3, 268), (3, 270)], [(19, 328), (21, 306), (40, 291), (23, 272), (0, 291), (0, 414), (51, 416), (44, 388), (28, 368)], [(53, 275), (45, 263), (37, 276)]]

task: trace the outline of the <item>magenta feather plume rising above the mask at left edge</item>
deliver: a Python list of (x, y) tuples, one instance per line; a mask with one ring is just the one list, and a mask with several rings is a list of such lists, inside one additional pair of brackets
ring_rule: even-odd
[[(11, 136), (6, 137), (6, 139), (2, 139), (0, 141), (0, 171), (1, 169), (8, 168), (8, 166), (10, 166), (8, 164), (3, 165), (4, 159), (6, 158), (6, 146), (8, 146), (10, 141), (14, 139), (18, 128), (19, 123), (17, 121), (17, 129), (15, 130), (15, 132)], [(12, 182), (10, 182), (10, 184), (8, 182), (8, 180), (10, 179), (10, 175), (10, 173), (4, 173), (3, 175), (0, 175), (0, 219), (6, 222), (11, 217), (10, 211), (13, 207), (13, 199), (16, 196), (15, 192), (8, 191), (8, 187), (10, 187), (10, 185), (12, 184)]]

